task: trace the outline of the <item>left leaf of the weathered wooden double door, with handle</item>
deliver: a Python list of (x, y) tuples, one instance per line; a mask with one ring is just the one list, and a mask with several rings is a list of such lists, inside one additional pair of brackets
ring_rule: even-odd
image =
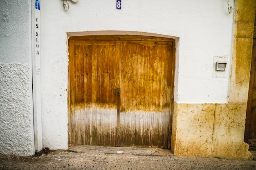
[(115, 146), (120, 42), (70, 40), (70, 143)]

